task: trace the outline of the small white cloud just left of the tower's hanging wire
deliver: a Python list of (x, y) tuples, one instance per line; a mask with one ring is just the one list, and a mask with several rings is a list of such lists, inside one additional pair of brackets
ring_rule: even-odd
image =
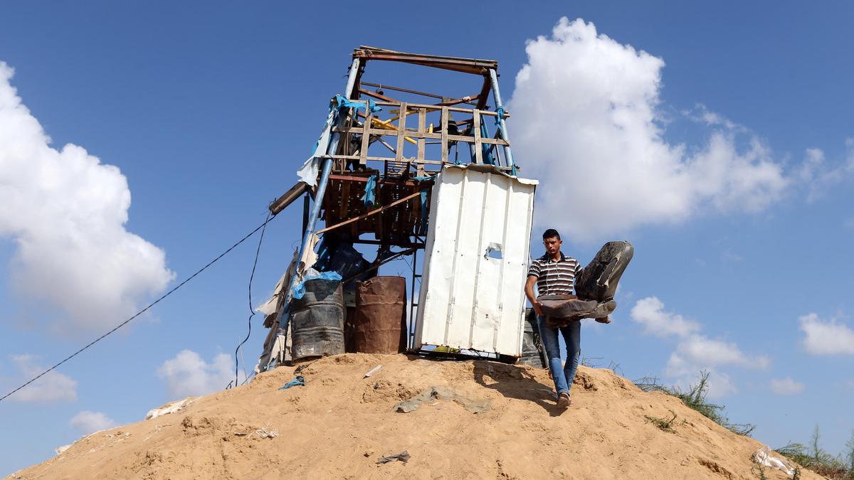
[[(166, 380), (167, 391), (173, 399), (208, 395), (225, 389), (234, 380), (234, 360), (227, 354), (217, 354), (206, 363), (192, 350), (182, 350), (173, 359), (166, 360), (157, 375)], [(241, 372), (240, 381), (243, 381)]]

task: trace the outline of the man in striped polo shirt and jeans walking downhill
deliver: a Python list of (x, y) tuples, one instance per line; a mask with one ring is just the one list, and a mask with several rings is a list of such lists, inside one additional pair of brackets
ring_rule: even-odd
[[(552, 373), (554, 388), (558, 392), (558, 407), (566, 408), (571, 404), (570, 387), (576, 378), (576, 370), (578, 370), (582, 323), (579, 321), (570, 322), (569, 325), (558, 328), (548, 326), (546, 315), (542, 313), (542, 304), (534, 295), (535, 284), (538, 296), (572, 294), (576, 276), (582, 268), (578, 260), (561, 253), (560, 245), (562, 243), (560, 234), (553, 228), (543, 232), (542, 244), (546, 247), (546, 254), (531, 262), (528, 270), (528, 281), (525, 284), (525, 296), (528, 296), (528, 300), (534, 306), (534, 311), (537, 314), (540, 338), (548, 357), (548, 369)], [(560, 361), (558, 332), (564, 336), (564, 342), (566, 342), (565, 366)]]

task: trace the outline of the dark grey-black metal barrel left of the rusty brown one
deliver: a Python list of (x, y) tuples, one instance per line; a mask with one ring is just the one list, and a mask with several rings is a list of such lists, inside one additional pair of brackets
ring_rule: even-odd
[(341, 282), (317, 278), (291, 303), (293, 359), (344, 353), (344, 297)]

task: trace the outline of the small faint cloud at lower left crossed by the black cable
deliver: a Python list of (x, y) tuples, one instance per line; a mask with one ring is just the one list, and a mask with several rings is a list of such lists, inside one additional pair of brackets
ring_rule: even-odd
[[(36, 363), (36, 356), (31, 354), (12, 355), (12, 361), (18, 369), (18, 375), (9, 382), (9, 389), (15, 389), (20, 383), (44, 372), (44, 366)], [(3, 392), (4, 394), (6, 392)], [(59, 401), (77, 400), (77, 381), (56, 370), (48, 372), (44, 377), (30, 383), (9, 397), (14, 401), (31, 401), (36, 403), (56, 403)]]

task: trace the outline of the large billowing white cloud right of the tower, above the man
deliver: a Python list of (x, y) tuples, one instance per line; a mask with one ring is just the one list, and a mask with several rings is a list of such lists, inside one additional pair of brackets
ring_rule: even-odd
[(744, 129), (705, 108), (705, 144), (664, 140), (662, 59), (566, 18), (525, 51), (509, 102), (513, 149), (525, 175), (541, 179), (539, 218), (574, 225), (570, 237), (592, 241), (705, 208), (757, 212), (787, 190), (770, 150), (753, 136), (737, 141)]

